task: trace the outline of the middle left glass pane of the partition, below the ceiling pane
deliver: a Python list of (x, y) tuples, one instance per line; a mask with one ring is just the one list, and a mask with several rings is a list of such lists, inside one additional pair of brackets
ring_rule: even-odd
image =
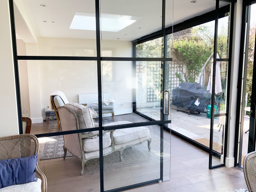
[[(50, 131), (41, 128), (41, 123), (58, 123), (58, 112), (54, 111), (51, 96), (56, 111), (66, 103), (87, 104), (79, 106), (88, 109), (90, 103), (98, 100), (96, 61), (20, 60), (18, 66), (22, 115), (30, 117), (40, 133)], [(91, 93), (96, 96), (90, 97)], [(92, 117), (97, 116), (88, 110)], [(89, 127), (95, 127), (92, 118)]]

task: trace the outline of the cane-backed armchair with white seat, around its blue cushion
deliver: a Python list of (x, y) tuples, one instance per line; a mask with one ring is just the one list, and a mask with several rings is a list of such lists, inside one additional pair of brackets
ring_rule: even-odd
[[(32, 134), (20, 134), (9, 137), (0, 137), (0, 160), (17, 159), (21, 157), (30, 157), (39, 152), (38, 139)], [(29, 160), (27, 160), (28, 162)], [(17, 170), (20, 167), (17, 166)], [(16, 172), (18, 172), (16, 170)], [(37, 191), (47, 191), (47, 179), (43, 172), (35, 165), (35, 173), (41, 178), (34, 182), (6, 186), (0, 191), (31, 191), (32, 189), (39, 189)], [(28, 173), (19, 173), (19, 176), (27, 175)], [(7, 175), (5, 175), (6, 178)], [(13, 175), (11, 176), (13, 177)], [(16, 177), (15, 177), (16, 178)], [(17, 178), (16, 178), (17, 179)]]

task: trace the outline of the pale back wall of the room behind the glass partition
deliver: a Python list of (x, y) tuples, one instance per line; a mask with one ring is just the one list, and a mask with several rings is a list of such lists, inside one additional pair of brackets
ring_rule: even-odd
[[(110, 51), (109, 56), (113, 57), (131, 57), (132, 43), (131, 41), (102, 40), (102, 50)], [(38, 55), (96, 56), (96, 41), (38, 37)], [(103, 52), (103, 56), (106, 56), (106, 53)], [(98, 92), (96, 61), (38, 61), (38, 64), (43, 116), (44, 108), (49, 106), (49, 96), (54, 90), (63, 91), (69, 102), (79, 102), (80, 93)], [(108, 68), (110, 69), (108, 73), (112, 73), (112, 78), (103, 80), (103, 92), (111, 93), (111, 97), (116, 100), (115, 110), (131, 109), (132, 62), (103, 61), (103, 69), (105, 70), (106, 65), (109, 66), (109, 64), (111, 69)], [(97, 101), (97, 98), (95, 99)]]

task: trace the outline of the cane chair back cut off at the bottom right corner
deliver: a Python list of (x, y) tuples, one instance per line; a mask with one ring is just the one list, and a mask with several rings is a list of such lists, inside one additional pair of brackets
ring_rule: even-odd
[(249, 192), (256, 192), (256, 151), (244, 157), (244, 178)]

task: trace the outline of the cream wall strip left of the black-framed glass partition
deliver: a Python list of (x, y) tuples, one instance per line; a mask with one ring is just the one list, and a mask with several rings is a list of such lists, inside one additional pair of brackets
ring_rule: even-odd
[(0, 137), (19, 133), (8, 2), (9, 0), (0, 0)]

